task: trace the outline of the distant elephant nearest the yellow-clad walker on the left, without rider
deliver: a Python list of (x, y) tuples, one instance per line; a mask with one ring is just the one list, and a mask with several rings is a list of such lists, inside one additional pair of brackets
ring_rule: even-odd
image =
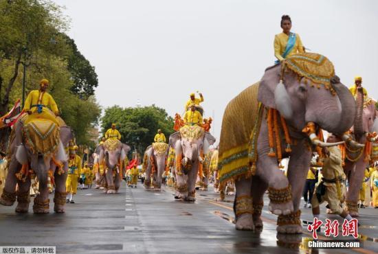
[(122, 181), (122, 162), (126, 158), (127, 153), (131, 150), (125, 143), (121, 143), (118, 139), (107, 139), (96, 148), (98, 154), (98, 162), (105, 165), (107, 194), (115, 194), (120, 189)]

